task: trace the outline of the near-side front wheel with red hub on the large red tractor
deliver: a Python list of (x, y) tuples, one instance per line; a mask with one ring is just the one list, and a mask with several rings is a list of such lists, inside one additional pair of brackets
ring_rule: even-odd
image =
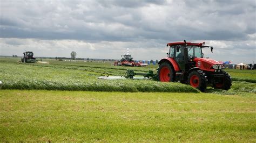
[(205, 74), (200, 70), (193, 70), (188, 75), (187, 83), (193, 88), (197, 88), (204, 92), (207, 87), (207, 78)]

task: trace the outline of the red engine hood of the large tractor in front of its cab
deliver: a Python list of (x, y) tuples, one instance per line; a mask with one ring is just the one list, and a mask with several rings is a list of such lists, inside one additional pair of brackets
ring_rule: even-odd
[(193, 60), (196, 62), (196, 66), (203, 70), (214, 70), (212, 69), (213, 65), (221, 65), (218, 61), (213, 59), (206, 59), (206, 58), (194, 58)]

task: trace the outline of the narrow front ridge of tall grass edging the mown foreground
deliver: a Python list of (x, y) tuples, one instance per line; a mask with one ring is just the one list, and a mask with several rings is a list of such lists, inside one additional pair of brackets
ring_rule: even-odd
[(3, 80), (2, 89), (37, 89), (71, 91), (123, 91), (123, 92), (199, 92), (186, 84), (163, 83), (149, 80)]

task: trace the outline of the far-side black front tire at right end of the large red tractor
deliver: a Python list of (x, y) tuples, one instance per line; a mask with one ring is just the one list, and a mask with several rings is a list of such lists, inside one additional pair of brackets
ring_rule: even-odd
[(223, 72), (223, 74), (224, 74), (223, 81), (221, 83), (214, 84), (213, 87), (215, 89), (229, 90), (232, 85), (231, 76), (228, 73), (226, 73), (225, 71)]

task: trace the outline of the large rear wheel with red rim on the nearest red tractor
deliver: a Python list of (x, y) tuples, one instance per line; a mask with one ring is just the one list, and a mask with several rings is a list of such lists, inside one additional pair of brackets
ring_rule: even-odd
[(174, 70), (168, 62), (163, 62), (158, 68), (158, 80), (161, 82), (173, 82)]

